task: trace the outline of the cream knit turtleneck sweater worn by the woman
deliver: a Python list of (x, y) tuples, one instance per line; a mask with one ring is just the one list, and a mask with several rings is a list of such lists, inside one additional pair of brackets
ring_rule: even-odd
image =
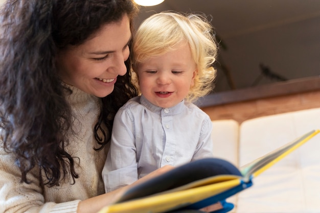
[(104, 193), (101, 177), (107, 150), (95, 151), (97, 147), (93, 129), (97, 122), (101, 103), (99, 98), (90, 96), (72, 87), (73, 93), (68, 100), (75, 115), (76, 136), (70, 137), (67, 152), (77, 162), (79, 178), (75, 184), (72, 179), (60, 186), (41, 187), (38, 170), (28, 174), (31, 184), (21, 183), (19, 169), (14, 157), (3, 149), (0, 140), (0, 213), (20, 212), (76, 212), (80, 200)]

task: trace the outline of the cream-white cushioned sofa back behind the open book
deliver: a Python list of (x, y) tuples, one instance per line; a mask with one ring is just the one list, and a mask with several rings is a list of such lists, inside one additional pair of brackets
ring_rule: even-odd
[[(244, 121), (212, 121), (214, 154), (238, 167), (295, 138), (320, 129), (320, 108)], [(319, 213), (320, 134), (254, 179), (231, 197), (236, 213)]]

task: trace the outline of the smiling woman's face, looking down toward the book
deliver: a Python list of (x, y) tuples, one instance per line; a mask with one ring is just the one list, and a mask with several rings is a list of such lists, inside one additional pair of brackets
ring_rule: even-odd
[(60, 78), (88, 94), (106, 97), (113, 91), (117, 76), (127, 72), (124, 61), (129, 57), (130, 40), (127, 15), (102, 26), (95, 37), (59, 52)]

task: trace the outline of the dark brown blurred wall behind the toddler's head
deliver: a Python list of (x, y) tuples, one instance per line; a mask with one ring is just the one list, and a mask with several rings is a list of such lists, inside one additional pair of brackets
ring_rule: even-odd
[(214, 92), (319, 77), (318, 0), (165, 0), (135, 22), (174, 10), (204, 13), (220, 44)]

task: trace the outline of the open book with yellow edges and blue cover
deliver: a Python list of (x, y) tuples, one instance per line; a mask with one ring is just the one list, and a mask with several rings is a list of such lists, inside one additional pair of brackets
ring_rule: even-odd
[(117, 202), (98, 213), (156, 213), (177, 209), (200, 209), (220, 202), (226, 212), (234, 205), (225, 199), (253, 185), (253, 179), (286, 155), (306, 143), (320, 130), (242, 166), (218, 158), (206, 158), (181, 165), (171, 171), (130, 187)]

